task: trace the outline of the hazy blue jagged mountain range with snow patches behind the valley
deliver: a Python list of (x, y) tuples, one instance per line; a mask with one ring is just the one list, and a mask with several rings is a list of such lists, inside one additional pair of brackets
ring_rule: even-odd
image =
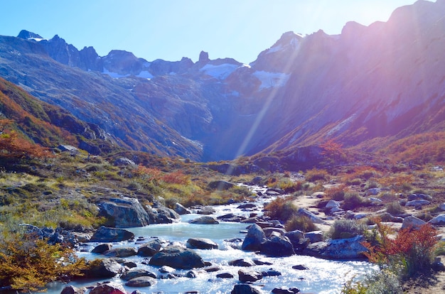
[(210, 161), (335, 139), (375, 151), (445, 126), (445, 0), (340, 35), (282, 35), (257, 60), (147, 61), (58, 36), (0, 36), (0, 77), (102, 129), (121, 148)]

